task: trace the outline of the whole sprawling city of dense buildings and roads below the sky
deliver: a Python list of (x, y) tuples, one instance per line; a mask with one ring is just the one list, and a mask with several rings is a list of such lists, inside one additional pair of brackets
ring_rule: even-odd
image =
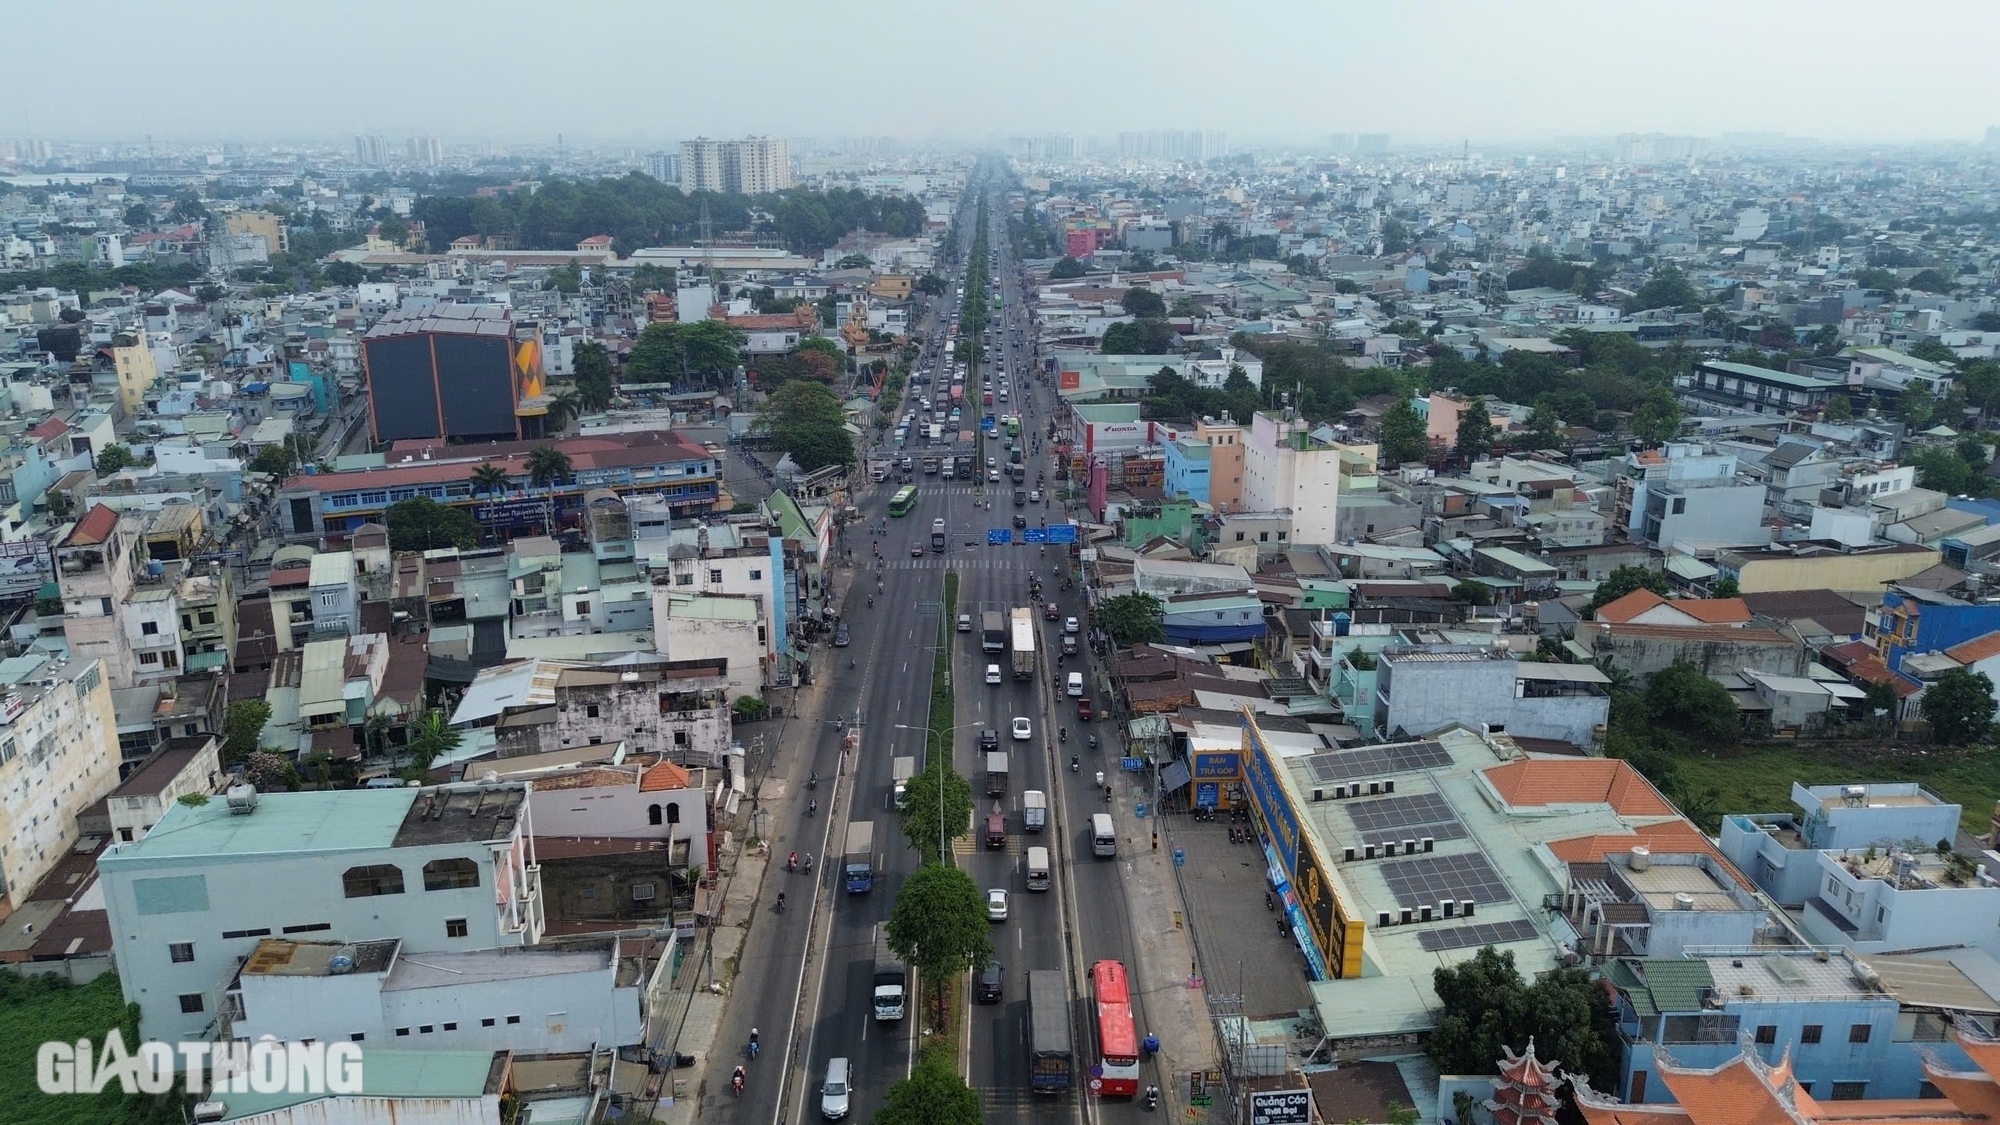
[(676, 96), (0, 144), (0, 1119), (2000, 1119), (2000, 126)]

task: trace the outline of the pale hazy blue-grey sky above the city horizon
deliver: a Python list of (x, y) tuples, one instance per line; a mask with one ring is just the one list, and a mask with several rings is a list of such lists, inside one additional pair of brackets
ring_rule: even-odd
[(2000, 0), (20, 0), (0, 138), (1976, 140)]

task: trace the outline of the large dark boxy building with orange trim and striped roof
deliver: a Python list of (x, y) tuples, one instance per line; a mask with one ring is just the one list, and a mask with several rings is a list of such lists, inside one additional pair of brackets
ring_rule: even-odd
[(514, 322), (490, 304), (392, 312), (362, 336), (376, 442), (520, 438)]

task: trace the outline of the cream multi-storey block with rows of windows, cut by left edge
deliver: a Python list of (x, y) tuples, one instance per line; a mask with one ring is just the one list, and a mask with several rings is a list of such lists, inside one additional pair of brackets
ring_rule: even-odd
[(118, 785), (118, 719), (98, 661), (14, 657), (0, 689), (0, 897), (20, 907)]

